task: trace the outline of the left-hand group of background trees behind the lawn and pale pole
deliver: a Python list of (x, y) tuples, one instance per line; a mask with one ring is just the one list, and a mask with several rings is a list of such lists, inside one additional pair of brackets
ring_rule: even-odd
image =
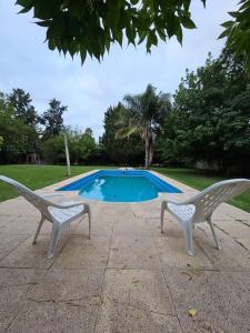
[(0, 93), (0, 163), (26, 163), (34, 154), (40, 162), (64, 163), (64, 132), (72, 162), (86, 162), (90, 155), (93, 161), (98, 150), (92, 130), (67, 128), (63, 123), (67, 110), (52, 99), (48, 109), (39, 114), (30, 94), (22, 89)]

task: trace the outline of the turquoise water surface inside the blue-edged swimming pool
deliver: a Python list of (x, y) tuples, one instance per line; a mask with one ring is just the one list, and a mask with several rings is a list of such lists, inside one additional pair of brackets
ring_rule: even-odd
[(146, 201), (158, 196), (159, 189), (146, 176), (102, 175), (80, 190), (80, 195), (111, 202)]

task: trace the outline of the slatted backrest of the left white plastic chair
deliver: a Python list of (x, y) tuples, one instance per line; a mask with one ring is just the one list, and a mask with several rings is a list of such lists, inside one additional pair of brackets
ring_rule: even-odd
[(22, 195), (27, 201), (36, 206), (46, 218), (50, 218), (48, 212), (48, 206), (52, 204), (50, 201), (43, 199), (42, 196), (38, 195), (33, 191), (11, 178), (0, 175), (0, 180), (13, 186), (20, 195)]

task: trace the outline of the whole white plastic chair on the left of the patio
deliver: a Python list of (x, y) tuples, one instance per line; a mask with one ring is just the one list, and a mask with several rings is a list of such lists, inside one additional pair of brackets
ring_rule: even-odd
[[(13, 186), (20, 195), (24, 196), (33, 206), (36, 206), (40, 213), (41, 219), (38, 225), (38, 230), (34, 234), (33, 244), (36, 244), (38, 235), (40, 233), (41, 226), (44, 220), (50, 221), (52, 225), (52, 231), (50, 235), (50, 243), (48, 249), (48, 259), (53, 256), (53, 252), (59, 239), (60, 231), (69, 225), (76, 219), (82, 216), (83, 214), (88, 214), (89, 216), (89, 238), (91, 233), (91, 212), (90, 206), (86, 202), (70, 202), (63, 201), (63, 195), (60, 193), (50, 193), (44, 195), (39, 195), (24, 186), (23, 184), (8, 178), (4, 175), (0, 175), (0, 180), (7, 182), (11, 186)], [(60, 203), (54, 203), (49, 198), (58, 196), (60, 198)]]

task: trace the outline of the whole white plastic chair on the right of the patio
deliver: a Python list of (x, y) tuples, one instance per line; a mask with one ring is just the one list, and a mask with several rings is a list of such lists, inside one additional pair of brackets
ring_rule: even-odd
[(164, 211), (169, 211), (183, 229), (186, 245), (189, 255), (194, 254), (192, 230), (196, 223), (208, 222), (219, 250), (219, 243), (211, 221), (213, 211), (224, 201), (228, 201), (250, 188), (250, 180), (234, 179), (218, 182), (201, 193), (183, 201), (166, 200), (161, 203), (161, 232), (163, 233)]

